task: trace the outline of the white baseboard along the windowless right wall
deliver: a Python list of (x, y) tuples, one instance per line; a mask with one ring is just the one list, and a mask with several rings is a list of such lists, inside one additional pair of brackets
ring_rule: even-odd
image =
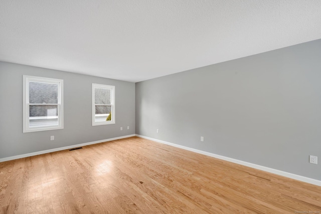
[(269, 168), (269, 167), (266, 167), (266, 166), (261, 166), (261, 165), (257, 165), (257, 164), (254, 164), (254, 163), (245, 162), (245, 161), (242, 161), (242, 160), (237, 160), (237, 159), (233, 159), (233, 158), (230, 158), (230, 157), (225, 157), (225, 156), (218, 155), (218, 154), (213, 154), (213, 153), (210, 153), (210, 152), (206, 152), (206, 151), (190, 148), (190, 147), (187, 147), (187, 146), (178, 145), (178, 144), (175, 144), (175, 143), (166, 142), (166, 141), (163, 141), (163, 140), (157, 140), (157, 139), (154, 139), (154, 138), (151, 138), (151, 137), (146, 137), (146, 136), (142, 136), (142, 135), (138, 135), (138, 134), (136, 134), (136, 136), (137, 137), (141, 137), (141, 138), (145, 138), (145, 139), (148, 139), (148, 140), (152, 140), (152, 141), (155, 141), (155, 142), (158, 142), (158, 143), (163, 143), (163, 144), (167, 144), (167, 145), (170, 145), (170, 146), (178, 147), (178, 148), (181, 148), (181, 149), (193, 151), (193, 152), (196, 152), (196, 153), (205, 154), (207, 156), (215, 157), (215, 158), (218, 158), (218, 159), (226, 160), (226, 161), (229, 161), (229, 162), (237, 163), (237, 164), (240, 164), (240, 165), (248, 166), (248, 167), (251, 167), (251, 168), (259, 169), (259, 170), (262, 170), (262, 171), (270, 172), (270, 173), (273, 173), (273, 174), (277, 174), (277, 175), (281, 175), (281, 176), (284, 176), (284, 177), (289, 177), (289, 178), (292, 178), (292, 179), (295, 179), (295, 180), (299, 180), (299, 181), (303, 181), (303, 182), (306, 182), (306, 183), (311, 183), (311, 184), (314, 184), (314, 185), (321, 186), (321, 180), (316, 180), (316, 179), (313, 179), (313, 178), (304, 177), (304, 176), (297, 175), (297, 174), (292, 174), (292, 173), (281, 171), (281, 170), (278, 170), (278, 169), (273, 169), (273, 168)]

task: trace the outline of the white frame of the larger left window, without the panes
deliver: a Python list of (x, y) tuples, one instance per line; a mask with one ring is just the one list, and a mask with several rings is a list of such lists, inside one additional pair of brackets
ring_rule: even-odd
[[(48, 84), (58, 84), (58, 125), (53, 126), (43, 126), (43, 127), (30, 127), (30, 103), (29, 103), (29, 83), (30, 82), (39, 82), (39, 83), (48, 83)], [(35, 77), (23, 75), (23, 132), (34, 132), (34, 131), (48, 131), (55, 129), (64, 128), (64, 106), (63, 106), (63, 86), (64, 81), (60, 79), (52, 79), (46, 77)], [(34, 104), (32, 104), (34, 105)], [(42, 105), (42, 104), (37, 104)], [(48, 105), (48, 104), (46, 104)], [(55, 104), (56, 105), (56, 104)]]

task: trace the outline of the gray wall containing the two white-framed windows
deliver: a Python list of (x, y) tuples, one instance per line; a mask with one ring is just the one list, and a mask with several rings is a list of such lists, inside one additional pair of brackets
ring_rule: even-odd
[[(23, 133), (23, 75), (64, 80), (64, 129)], [(92, 83), (115, 86), (115, 124), (92, 126)], [(0, 62), (0, 158), (134, 133), (134, 83)]]

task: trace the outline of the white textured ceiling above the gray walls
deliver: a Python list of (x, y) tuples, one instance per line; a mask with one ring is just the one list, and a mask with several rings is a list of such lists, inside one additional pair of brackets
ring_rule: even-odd
[(320, 0), (0, 0), (0, 61), (130, 82), (316, 39)]

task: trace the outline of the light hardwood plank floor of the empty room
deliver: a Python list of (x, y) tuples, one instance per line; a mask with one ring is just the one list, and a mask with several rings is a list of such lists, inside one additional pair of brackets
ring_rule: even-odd
[(321, 187), (131, 137), (0, 163), (0, 213), (321, 213)]

